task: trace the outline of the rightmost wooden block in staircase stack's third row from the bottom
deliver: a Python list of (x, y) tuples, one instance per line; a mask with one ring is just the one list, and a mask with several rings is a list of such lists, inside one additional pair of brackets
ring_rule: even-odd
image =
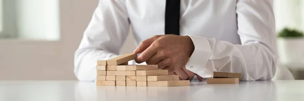
[(136, 71), (136, 76), (149, 76), (149, 75), (168, 75), (168, 70), (143, 70)]

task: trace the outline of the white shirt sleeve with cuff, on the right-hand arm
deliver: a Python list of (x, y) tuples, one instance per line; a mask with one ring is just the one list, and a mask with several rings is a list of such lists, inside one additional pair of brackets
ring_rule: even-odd
[(276, 72), (275, 18), (271, 0), (237, 1), (242, 44), (191, 36), (195, 50), (186, 69), (202, 77), (213, 71), (242, 73), (242, 80), (270, 80)]

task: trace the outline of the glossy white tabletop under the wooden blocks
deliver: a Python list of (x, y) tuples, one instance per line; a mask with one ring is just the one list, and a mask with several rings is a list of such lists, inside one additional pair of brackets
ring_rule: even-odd
[(304, 100), (304, 80), (181, 87), (96, 86), (79, 81), (0, 81), (0, 100)]

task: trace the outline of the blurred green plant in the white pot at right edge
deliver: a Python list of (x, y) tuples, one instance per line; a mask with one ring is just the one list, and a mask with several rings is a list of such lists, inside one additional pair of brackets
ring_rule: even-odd
[(298, 31), (295, 29), (284, 28), (278, 33), (278, 37), (281, 37), (281, 38), (303, 37), (303, 33), (301, 31)]

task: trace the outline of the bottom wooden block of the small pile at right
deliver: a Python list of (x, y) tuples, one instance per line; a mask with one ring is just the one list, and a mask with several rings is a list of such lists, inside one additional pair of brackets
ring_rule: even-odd
[(239, 83), (239, 78), (208, 78), (208, 84)]

